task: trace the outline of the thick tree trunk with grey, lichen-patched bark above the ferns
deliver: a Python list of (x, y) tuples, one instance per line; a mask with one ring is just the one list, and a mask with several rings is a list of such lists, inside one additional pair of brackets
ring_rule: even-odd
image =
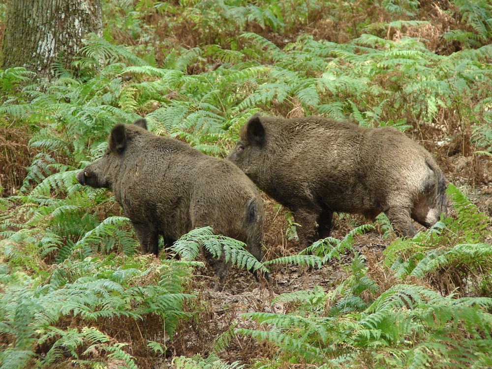
[(0, 69), (24, 66), (52, 77), (68, 66), (89, 32), (101, 33), (101, 0), (8, 0)]

